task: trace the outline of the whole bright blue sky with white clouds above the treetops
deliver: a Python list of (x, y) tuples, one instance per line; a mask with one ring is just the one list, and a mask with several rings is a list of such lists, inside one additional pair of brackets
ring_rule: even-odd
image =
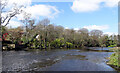
[[(24, 10), (31, 14), (36, 21), (50, 19), (51, 24), (61, 25), (66, 29), (79, 30), (87, 28), (89, 31), (102, 30), (104, 34), (118, 33), (118, 0), (69, 0), (64, 2), (43, 0), (8, 0), (8, 8), (12, 3), (25, 5)], [(13, 28), (23, 25), (20, 20), (22, 14), (13, 18), (8, 26)]]

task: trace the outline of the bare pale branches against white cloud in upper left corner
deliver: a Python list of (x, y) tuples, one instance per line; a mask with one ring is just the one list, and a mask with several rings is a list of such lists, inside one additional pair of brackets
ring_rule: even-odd
[(0, 11), (1, 17), (0, 17), (0, 19), (1, 19), (1, 24), (3, 26), (7, 26), (13, 17), (20, 14), (23, 11), (22, 8), (24, 7), (23, 5), (17, 6), (16, 3), (13, 3), (12, 8), (6, 9), (7, 4), (8, 4), (7, 0), (2, 0), (0, 2), (0, 5), (1, 5), (1, 11)]

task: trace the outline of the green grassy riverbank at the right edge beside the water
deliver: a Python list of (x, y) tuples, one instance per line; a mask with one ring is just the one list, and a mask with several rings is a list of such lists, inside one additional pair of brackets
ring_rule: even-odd
[(112, 68), (120, 72), (120, 63), (119, 63), (120, 47), (114, 47), (111, 48), (110, 50), (114, 51), (114, 53), (108, 58), (109, 61), (106, 63), (107, 65), (111, 66)]

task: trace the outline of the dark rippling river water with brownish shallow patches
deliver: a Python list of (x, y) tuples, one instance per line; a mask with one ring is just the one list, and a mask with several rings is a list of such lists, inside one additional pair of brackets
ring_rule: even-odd
[[(101, 48), (98, 48), (101, 49)], [(109, 48), (102, 48), (102, 50)], [(106, 65), (113, 52), (80, 49), (49, 51), (4, 51), (3, 71), (115, 71)]]

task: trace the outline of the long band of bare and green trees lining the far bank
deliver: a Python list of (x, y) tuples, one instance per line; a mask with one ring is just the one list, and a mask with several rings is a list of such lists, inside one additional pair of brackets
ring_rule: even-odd
[(5, 40), (26, 45), (30, 49), (114, 47), (117, 45), (117, 35), (108, 36), (101, 30), (65, 29), (62, 26), (50, 24), (48, 19), (36, 24), (34, 22), (34, 20), (29, 20), (27, 25), (17, 28), (3, 27), (2, 33), (8, 33)]

